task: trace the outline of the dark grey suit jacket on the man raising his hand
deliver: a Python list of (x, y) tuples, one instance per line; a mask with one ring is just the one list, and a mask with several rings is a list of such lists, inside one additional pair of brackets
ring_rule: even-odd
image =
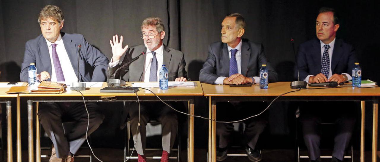
[[(176, 78), (181, 76), (187, 78), (184, 54), (181, 51), (174, 50), (173, 48), (166, 47), (165, 45), (163, 48), (163, 64), (165, 64), (168, 69), (168, 80), (174, 81)], [(116, 69), (140, 55), (141, 52), (146, 53), (146, 50), (147, 48), (144, 45), (137, 45), (128, 48), (127, 53), (122, 56), (123, 61), (119, 61), (118, 65), (109, 68), (109, 78), (114, 77)], [(142, 55), (135, 61), (131, 62), (130, 65), (126, 65), (117, 72), (115, 78), (120, 78), (124, 81), (143, 81), (142, 74), (144, 71), (145, 58), (146, 55)]]

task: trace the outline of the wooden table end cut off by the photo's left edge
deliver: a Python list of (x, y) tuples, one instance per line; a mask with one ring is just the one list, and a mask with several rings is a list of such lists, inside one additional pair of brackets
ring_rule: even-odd
[[(7, 161), (12, 162), (13, 161), (13, 148), (12, 148), (12, 107), (11, 107), (11, 100), (17, 100), (17, 117), (20, 116), (20, 99), (17, 94), (6, 94), (5, 92), (9, 88), (0, 88), (0, 103), (6, 103), (6, 150), (7, 150)], [(20, 130), (19, 125), (17, 125), (17, 131)], [(21, 147), (19, 147), (19, 144), (21, 145), (21, 136), (17, 134), (17, 153), (20, 149), (20, 155), (21, 155)]]

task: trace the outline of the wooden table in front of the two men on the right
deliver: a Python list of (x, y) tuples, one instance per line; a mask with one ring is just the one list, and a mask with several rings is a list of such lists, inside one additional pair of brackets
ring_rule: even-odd
[[(269, 83), (268, 89), (260, 89), (255, 84), (251, 87), (230, 87), (202, 83), (204, 96), (209, 97), (209, 118), (216, 119), (217, 101), (272, 101), (282, 93), (292, 91), (290, 82)], [(373, 101), (372, 161), (376, 161), (377, 151), (377, 118), (380, 88), (360, 89), (341, 87), (329, 89), (302, 89), (288, 93), (276, 101), (361, 101), (361, 146), (360, 160), (364, 162), (364, 101)], [(216, 122), (209, 120), (209, 162), (216, 161)]]

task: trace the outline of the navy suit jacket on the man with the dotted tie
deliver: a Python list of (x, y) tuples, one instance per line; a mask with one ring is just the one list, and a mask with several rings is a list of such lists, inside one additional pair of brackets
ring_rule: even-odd
[[(321, 73), (321, 44), (315, 38), (299, 45), (297, 64), (299, 68), (299, 79), (304, 80), (308, 75)], [(334, 51), (331, 58), (332, 74), (352, 74), (352, 67), (357, 61), (355, 49), (342, 39), (335, 39)], [(295, 78), (297, 71), (295, 70)]]

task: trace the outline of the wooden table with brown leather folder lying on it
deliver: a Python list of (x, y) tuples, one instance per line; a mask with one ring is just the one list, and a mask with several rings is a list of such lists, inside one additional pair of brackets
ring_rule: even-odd
[[(169, 87), (168, 90), (160, 90), (159, 88), (149, 88), (156, 93), (163, 101), (188, 101), (188, 114), (194, 114), (194, 96), (203, 96), (201, 83), (195, 82), (195, 87)], [(107, 84), (103, 83), (103, 87)], [(127, 86), (131, 83), (127, 83)], [(88, 90), (80, 91), (83, 93), (86, 101), (136, 101), (135, 93), (101, 93), (99, 90), (103, 87), (89, 87)], [(160, 101), (157, 97), (148, 90), (140, 89), (137, 92), (140, 101)], [(62, 102), (62, 101), (75, 101), (82, 102), (83, 98), (81, 93), (67, 89), (67, 92), (62, 94), (42, 94), (42, 93), (29, 93), (19, 94), (20, 97), (28, 99), (28, 154), (29, 162), (34, 161), (33, 153), (33, 102)], [(103, 98), (103, 99), (102, 99)], [(121, 107), (120, 107), (121, 108)], [(36, 125), (38, 124), (38, 116), (36, 116)], [(188, 162), (194, 161), (194, 117), (188, 117)], [(38, 128), (38, 127), (37, 127)], [(40, 162), (40, 141), (39, 130), (36, 130), (36, 162)]]

